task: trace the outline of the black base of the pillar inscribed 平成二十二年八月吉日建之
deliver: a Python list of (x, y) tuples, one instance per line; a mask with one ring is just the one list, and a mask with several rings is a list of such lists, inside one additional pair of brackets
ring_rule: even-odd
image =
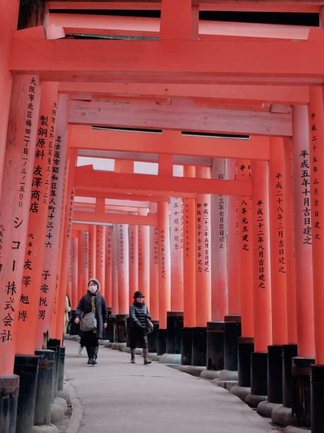
[(251, 353), (251, 394), (267, 395), (268, 354), (267, 352)]

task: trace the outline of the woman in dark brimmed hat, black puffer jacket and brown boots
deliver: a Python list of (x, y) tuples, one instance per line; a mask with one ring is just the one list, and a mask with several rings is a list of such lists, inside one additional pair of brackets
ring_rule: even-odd
[(134, 302), (130, 307), (130, 337), (131, 337), (131, 362), (135, 364), (135, 348), (137, 344), (143, 348), (144, 364), (150, 364), (148, 360), (146, 317), (151, 319), (144, 303), (144, 295), (140, 291), (134, 293)]

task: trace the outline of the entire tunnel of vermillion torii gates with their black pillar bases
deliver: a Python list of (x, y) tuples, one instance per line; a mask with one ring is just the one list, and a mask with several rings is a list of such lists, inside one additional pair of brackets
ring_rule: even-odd
[[(17, 30), (19, 3), (0, 10), (0, 387), (12, 390), (0, 422), (49, 423), (22, 372), (35, 349), (52, 362), (65, 295), (75, 308), (95, 273), (110, 339), (126, 340), (132, 291), (145, 288), (158, 355), (181, 352), (205, 377), (237, 371), (233, 392), (261, 413), (282, 403), (273, 421), (295, 413), (322, 431), (323, 30), (199, 12), (312, 12), (321, 24), (323, 3), (42, 2), (21, 8)], [(136, 161), (157, 174), (134, 173)]]

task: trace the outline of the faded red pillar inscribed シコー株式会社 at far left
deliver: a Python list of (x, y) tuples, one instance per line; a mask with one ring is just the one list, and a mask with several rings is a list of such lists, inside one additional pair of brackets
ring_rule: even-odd
[(0, 200), (0, 377), (14, 368), (38, 108), (38, 77), (15, 76)]

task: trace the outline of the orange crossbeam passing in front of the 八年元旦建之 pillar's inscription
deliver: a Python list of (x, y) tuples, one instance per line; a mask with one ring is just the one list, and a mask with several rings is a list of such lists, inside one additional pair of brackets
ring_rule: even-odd
[(182, 192), (252, 195), (252, 180), (218, 180), (184, 178), (174, 176), (154, 176), (142, 174), (124, 174), (94, 171), (77, 167), (75, 170), (75, 186), (77, 187), (113, 187), (116, 189), (145, 190), (147, 185), (154, 191), (169, 191), (170, 196), (181, 196)]

